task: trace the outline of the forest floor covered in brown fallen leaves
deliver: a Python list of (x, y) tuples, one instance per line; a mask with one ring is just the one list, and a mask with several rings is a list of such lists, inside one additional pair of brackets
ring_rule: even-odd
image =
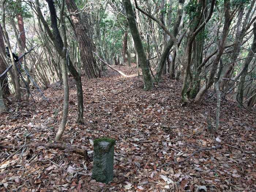
[[(115, 67), (129, 74), (135, 65)], [(222, 101), (221, 127), (211, 134), (216, 102), (181, 106), (181, 82), (166, 77), (143, 91), (135, 73), (125, 78), (108, 70), (103, 78), (82, 80), (84, 125), (76, 123), (76, 88), (69, 79), (61, 144), (91, 153), (94, 139), (116, 139), (112, 182), (91, 178), (92, 159), (24, 145), (54, 141), (63, 89), (52, 86), (43, 91), (49, 104), (37, 97), (9, 105), (0, 116), (0, 146), (16, 146), (0, 150), (0, 191), (256, 191), (255, 114)]]

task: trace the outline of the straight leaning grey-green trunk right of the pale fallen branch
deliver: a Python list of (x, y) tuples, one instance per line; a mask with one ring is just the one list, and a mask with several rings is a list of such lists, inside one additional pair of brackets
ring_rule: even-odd
[(151, 90), (153, 87), (150, 70), (147, 65), (146, 54), (140, 39), (139, 31), (136, 26), (135, 16), (133, 14), (132, 4), (130, 0), (123, 0), (125, 14), (127, 16), (129, 28), (131, 30), (132, 38), (135, 44), (135, 48), (139, 57), (140, 66), (142, 68), (142, 75), (144, 81), (144, 89)]

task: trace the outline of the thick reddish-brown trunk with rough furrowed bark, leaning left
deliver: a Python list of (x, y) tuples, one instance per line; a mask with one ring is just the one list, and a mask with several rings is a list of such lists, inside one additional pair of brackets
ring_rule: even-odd
[(90, 35), (89, 21), (87, 18), (81, 19), (80, 14), (76, 14), (78, 7), (74, 0), (65, 0), (68, 11), (72, 14), (71, 22), (74, 26), (76, 38), (80, 45), (81, 59), (84, 64), (85, 75), (88, 79), (97, 78), (98, 66), (93, 52), (95, 47)]

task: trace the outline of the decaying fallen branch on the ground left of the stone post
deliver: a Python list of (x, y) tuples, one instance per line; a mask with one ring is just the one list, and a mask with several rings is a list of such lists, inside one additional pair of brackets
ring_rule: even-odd
[[(58, 148), (60, 150), (68, 150), (68, 151), (72, 151), (74, 153), (83, 155), (86, 158), (86, 160), (88, 160), (87, 150), (77, 148), (77, 147), (72, 147), (72, 146), (69, 146), (69, 145), (63, 144), (63, 143), (29, 143), (29, 144), (26, 144), (26, 146), (28, 146), (28, 147), (43, 146), (43, 147), (48, 147), (48, 148)], [(0, 149), (7, 149), (7, 150), (13, 150), (13, 149), (18, 150), (18, 149), (20, 149), (20, 147), (23, 147), (23, 146), (0, 145)]]

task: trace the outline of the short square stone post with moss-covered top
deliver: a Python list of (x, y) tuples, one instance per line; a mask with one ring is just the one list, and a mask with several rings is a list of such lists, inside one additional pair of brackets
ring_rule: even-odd
[(114, 144), (111, 138), (99, 138), (93, 141), (93, 174), (96, 181), (105, 182), (113, 180)]

